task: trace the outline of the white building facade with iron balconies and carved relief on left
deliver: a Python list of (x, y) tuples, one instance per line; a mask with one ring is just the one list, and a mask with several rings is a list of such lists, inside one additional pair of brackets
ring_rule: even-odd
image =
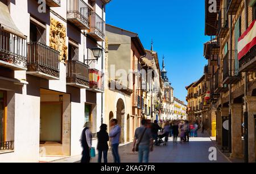
[(109, 0), (46, 2), (0, 1), (2, 162), (80, 155), (84, 123), (104, 122)]

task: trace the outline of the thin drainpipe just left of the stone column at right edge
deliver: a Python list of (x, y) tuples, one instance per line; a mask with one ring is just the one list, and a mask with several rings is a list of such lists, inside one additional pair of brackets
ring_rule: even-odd
[[(243, 1), (245, 3), (245, 28), (248, 28), (248, 3), (247, 0)], [(243, 113), (243, 119), (245, 123), (245, 135), (244, 135), (244, 142), (245, 142), (245, 154), (244, 154), (244, 160), (245, 163), (249, 162), (249, 150), (248, 150), (248, 107), (247, 107), (247, 102), (246, 102), (246, 96), (247, 96), (247, 76), (248, 73), (245, 72), (245, 96), (244, 96), (244, 105), (245, 105), (245, 110)]]

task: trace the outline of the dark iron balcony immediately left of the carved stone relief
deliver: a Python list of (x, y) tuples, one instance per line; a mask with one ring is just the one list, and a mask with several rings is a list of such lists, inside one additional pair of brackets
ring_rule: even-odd
[(60, 53), (39, 42), (31, 42), (27, 45), (27, 74), (48, 80), (59, 80)]

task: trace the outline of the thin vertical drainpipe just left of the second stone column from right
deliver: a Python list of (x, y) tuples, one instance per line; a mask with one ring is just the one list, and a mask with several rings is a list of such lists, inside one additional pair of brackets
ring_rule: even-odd
[[(229, 76), (232, 75), (232, 15), (229, 15)], [(229, 84), (229, 153), (232, 153), (231, 84)]]

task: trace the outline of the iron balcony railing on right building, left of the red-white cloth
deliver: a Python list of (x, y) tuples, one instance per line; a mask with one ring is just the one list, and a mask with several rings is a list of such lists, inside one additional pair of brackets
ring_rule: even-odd
[[(229, 52), (231, 55), (231, 60), (229, 57)], [(223, 59), (223, 80), (228, 77), (237, 77), (239, 74), (239, 65), (237, 58), (237, 50), (232, 50), (226, 53)]]

